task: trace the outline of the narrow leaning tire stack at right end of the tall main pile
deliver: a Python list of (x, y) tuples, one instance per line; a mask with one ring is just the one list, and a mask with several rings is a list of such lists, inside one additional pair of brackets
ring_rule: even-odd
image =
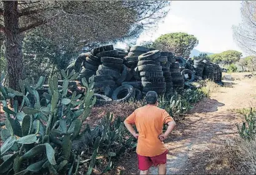
[(172, 84), (175, 90), (182, 90), (184, 88), (184, 77), (180, 72), (179, 62), (170, 64), (170, 73), (172, 75)]

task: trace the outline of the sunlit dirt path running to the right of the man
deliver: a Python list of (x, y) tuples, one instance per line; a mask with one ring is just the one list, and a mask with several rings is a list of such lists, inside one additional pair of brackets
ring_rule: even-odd
[[(167, 174), (235, 173), (226, 159), (216, 161), (215, 154), (221, 154), (225, 141), (237, 135), (235, 124), (244, 119), (231, 110), (256, 106), (256, 81), (237, 80), (229, 84), (232, 87), (220, 87), (219, 92), (198, 103), (165, 141), (169, 149)], [(126, 159), (125, 164), (133, 167), (124, 166), (125, 174), (139, 173), (134, 162), (135, 154)], [(157, 174), (157, 168), (151, 168), (150, 174)]]

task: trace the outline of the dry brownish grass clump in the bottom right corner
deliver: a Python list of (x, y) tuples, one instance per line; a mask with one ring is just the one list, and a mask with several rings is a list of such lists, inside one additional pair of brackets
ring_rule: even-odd
[(230, 140), (227, 142), (227, 153), (230, 163), (241, 171), (256, 173), (256, 141), (242, 139)]

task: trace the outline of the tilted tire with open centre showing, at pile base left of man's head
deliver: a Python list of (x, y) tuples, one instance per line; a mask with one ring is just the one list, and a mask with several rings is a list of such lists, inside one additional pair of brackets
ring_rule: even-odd
[(134, 97), (135, 90), (131, 85), (122, 85), (121, 87), (116, 88), (112, 94), (112, 99), (114, 102), (125, 102)]

